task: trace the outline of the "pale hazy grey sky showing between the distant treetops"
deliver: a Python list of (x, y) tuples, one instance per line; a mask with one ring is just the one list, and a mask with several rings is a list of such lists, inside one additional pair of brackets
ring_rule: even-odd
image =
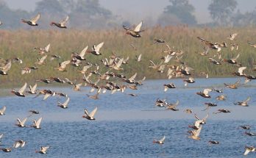
[[(4, 1), (4, 0), (0, 0)], [(5, 0), (13, 9), (34, 10), (40, 0)], [(211, 0), (189, 0), (196, 8), (195, 15), (199, 23), (211, 21), (207, 7)], [(241, 12), (252, 11), (256, 7), (254, 0), (237, 0)], [(169, 4), (168, 0), (99, 0), (102, 7), (111, 10), (115, 15), (131, 22), (145, 19), (155, 20)]]

